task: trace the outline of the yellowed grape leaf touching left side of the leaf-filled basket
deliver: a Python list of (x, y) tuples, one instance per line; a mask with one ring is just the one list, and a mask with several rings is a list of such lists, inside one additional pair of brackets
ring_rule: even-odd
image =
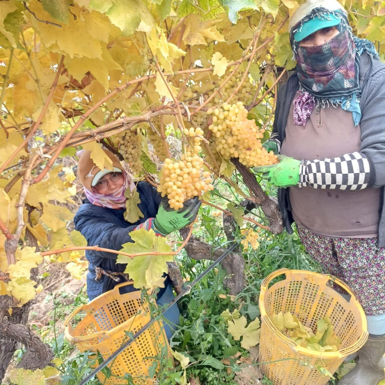
[(261, 335), (261, 329), (259, 327), (259, 319), (256, 318), (254, 321), (251, 321), (246, 327), (246, 317), (241, 316), (237, 320), (227, 321), (228, 323), (228, 333), (230, 333), (235, 341), (239, 341), (241, 337), (241, 346), (244, 349), (249, 349), (250, 346), (255, 346), (259, 343), (259, 337)]

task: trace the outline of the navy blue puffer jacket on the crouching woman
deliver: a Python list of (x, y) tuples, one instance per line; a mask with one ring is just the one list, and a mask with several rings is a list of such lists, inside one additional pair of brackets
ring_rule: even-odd
[[(135, 223), (128, 223), (123, 218), (124, 209), (109, 209), (105, 207), (95, 206), (87, 199), (83, 201), (82, 206), (75, 214), (75, 229), (83, 234), (89, 246), (99, 246), (107, 249), (120, 250), (123, 243), (131, 242), (128, 233), (148, 218), (154, 218), (157, 214), (161, 197), (156, 189), (147, 182), (139, 182), (137, 191), (141, 203), (138, 204), (139, 209), (144, 215)], [(95, 266), (99, 266), (105, 270), (123, 272), (126, 268), (125, 264), (116, 263), (117, 254), (106, 253), (102, 251), (87, 250), (85, 256), (89, 260), (89, 273), (87, 274), (87, 294), (90, 300), (111, 290), (118, 283), (108, 276), (102, 275), (99, 282), (95, 281)], [(169, 284), (167, 277), (165, 287)], [(127, 286), (127, 291), (136, 290), (132, 285)], [(161, 288), (158, 293), (160, 298), (165, 289)]]

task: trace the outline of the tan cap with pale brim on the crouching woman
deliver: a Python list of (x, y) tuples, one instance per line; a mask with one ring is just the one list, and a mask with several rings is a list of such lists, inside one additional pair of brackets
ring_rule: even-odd
[(80, 182), (82, 182), (83, 186), (91, 191), (91, 186), (95, 185), (105, 174), (113, 171), (123, 171), (123, 167), (120, 164), (119, 159), (112, 154), (111, 151), (106, 149), (103, 149), (103, 151), (112, 160), (113, 169), (100, 170), (90, 157), (91, 151), (82, 151), (80, 155), (79, 163), (77, 165), (77, 174), (79, 175)]

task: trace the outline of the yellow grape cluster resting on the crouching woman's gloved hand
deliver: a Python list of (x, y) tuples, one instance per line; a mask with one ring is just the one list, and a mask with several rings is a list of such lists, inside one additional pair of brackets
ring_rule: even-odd
[[(187, 130), (187, 129), (186, 129)], [(191, 129), (190, 129), (191, 130)], [(190, 132), (190, 130), (188, 130)], [(198, 127), (191, 130), (191, 137), (200, 135), (198, 132), (203, 131)], [(181, 155), (181, 159), (172, 161), (167, 158), (161, 169), (158, 192), (162, 197), (167, 196), (169, 205), (172, 209), (180, 209), (183, 202), (195, 196), (201, 196), (202, 192), (211, 191), (214, 186), (209, 171), (203, 171), (203, 158), (198, 155), (199, 143), (194, 138), (194, 142), (198, 143), (193, 148), (188, 146), (186, 152)]]

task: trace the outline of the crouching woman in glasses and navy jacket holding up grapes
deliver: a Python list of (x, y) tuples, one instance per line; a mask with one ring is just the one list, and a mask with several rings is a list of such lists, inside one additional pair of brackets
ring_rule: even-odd
[[(167, 199), (161, 199), (151, 184), (142, 181), (137, 183), (136, 189), (141, 202), (138, 208), (143, 218), (128, 223), (124, 219), (127, 201), (124, 192), (134, 189), (135, 184), (117, 157), (110, 151), (104, 152), (112, 160), (113, 171), (100, 170), (90, 158), (90, 151), (82, 151), (78, 164), (78, 175), (86, 199), (75, 214), (74, 223), (89, 246), (120, 250), (122, 244), (132, 242), (129, 233), (136, 229), (153, 229), (157, 236), (166, 236), (194, 221), (201, 205), (198, 197), (185, 202), (184, 207), (176, 211), (169, 207)], [(116, 263), (117, 254), (86, 250), (85, 256), (89, 261), (87, 294), (90, 300), (128, 280), (123, 273), (126, 264)], [(128, 285), (121, 289), (121, 293), (133, 290), (137, 289)], [(157, 304), (162, 306), (173, 299), (171, 280), (167, 276), (164, 288), (160, 288), (157, 294)], [(164, 313), (164, 317), (169, 321), (169, 325), (164, 324), (164, 329), (170, 339), (173, 333), (171, 328), (179, 325), (176, 303)]]

